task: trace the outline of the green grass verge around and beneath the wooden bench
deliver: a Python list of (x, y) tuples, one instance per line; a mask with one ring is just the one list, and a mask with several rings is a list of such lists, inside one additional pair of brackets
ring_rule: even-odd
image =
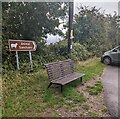
[[(100, 75), (103, 68), (104, 65), (95, 59), (85, 66), (77, 65), (76, 70), (85, 73), (83, 79), (89, 80)], [(24, 74), (19, 71), (8, 71), (3, 74), (2, 79), (5, 117), (41, 117), (49, 108), (56, 110), (60, 107), (76, 111), (75, 104), (86, 102), (86, 97), (76, 89), (80, 85), (80, 80), (65, 85), (62, 93), (60, 88), (47, 89), (49, 82), (47, 73), (43, 69)], [(59, 115), (54, 112), (52, 116)]]

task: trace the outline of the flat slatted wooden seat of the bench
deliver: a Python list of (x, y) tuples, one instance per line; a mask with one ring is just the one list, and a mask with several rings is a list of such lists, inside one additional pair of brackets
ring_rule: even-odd
[(74, 81), (77, 78), (83, 77), (84, 75), (85, 74), (74, 72), (72, 74), (68, 74), (68, 75), (61, 77), (61, 78), (58, 78), (56, 80), (52, 80), (51, 82), (55, 83), (55, 84), (65, 85), (71, 81)]

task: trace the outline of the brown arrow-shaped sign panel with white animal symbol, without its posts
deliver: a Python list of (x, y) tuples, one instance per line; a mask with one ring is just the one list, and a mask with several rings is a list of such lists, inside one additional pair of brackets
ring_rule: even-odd
[(36, 43), (27, 40), (9, 40), (10, 51), (35, 51)]

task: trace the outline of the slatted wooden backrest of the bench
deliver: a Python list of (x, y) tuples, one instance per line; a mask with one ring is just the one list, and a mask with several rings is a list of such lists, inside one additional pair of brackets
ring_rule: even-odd
[(45, 64), (48, 77), (55, 80), (74, 72), (74, 65), (71, 59)]

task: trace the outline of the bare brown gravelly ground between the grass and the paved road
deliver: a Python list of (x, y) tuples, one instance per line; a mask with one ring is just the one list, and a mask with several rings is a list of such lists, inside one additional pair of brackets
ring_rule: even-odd
[(104, 103), (104, 90), (98, 95), (90, 95), (86, 90), (87, 86), (94, 86), (100, 81), (100, 77), (95, 77), (89, 81), (84, 82), (84, 85), (77, 87), (78, 92), (83, 93), (87, 101), (80, 104), (74, 104), (72, 101), (66, 100), (61, 107), (54, 106), (54, 108), (47, 109), (44, 112), (45, 117), (110, 117), (107, 107)]

